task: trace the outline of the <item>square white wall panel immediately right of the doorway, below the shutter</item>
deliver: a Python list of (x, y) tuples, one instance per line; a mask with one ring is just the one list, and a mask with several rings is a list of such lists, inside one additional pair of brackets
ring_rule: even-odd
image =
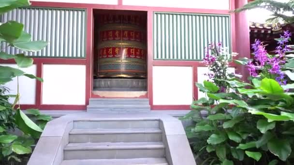
[(190, 105), (192, 67), (153, 67), (153, 105)]

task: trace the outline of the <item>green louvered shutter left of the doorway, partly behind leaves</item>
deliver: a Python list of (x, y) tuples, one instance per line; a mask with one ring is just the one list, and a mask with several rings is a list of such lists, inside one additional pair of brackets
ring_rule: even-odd
[[(46, 58), (86, 58), (86, 9), (72, 8), (19, 8), (0, 15), (0, 22), (15, 20), (24, 24), (24, 30), (32, 40), (48, 42), (42, 51), (26, 52), (25, 55)], [(0, 43), (6, 47), (6, 43)], [(22, 51), (13, 47), (5, 50), (9, 54)]]

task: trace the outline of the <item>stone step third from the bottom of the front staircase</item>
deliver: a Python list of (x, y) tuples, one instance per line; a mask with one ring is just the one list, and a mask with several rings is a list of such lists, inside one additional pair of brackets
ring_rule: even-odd
[(159, 128), (73, 129), (69, 136), (70, 143), (150, 141), (162, 141), (162, 130)]

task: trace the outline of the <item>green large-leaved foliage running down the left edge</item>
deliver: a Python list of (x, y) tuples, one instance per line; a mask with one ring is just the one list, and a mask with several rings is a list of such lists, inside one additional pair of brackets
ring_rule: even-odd
[[(17, 7), (29, 6), (29, 0), (4, 0), (0, 2), (0, 14), (4, 14)], [(39, 51), (47, 43), (45, 41), (31, 41), (31, 35), (26, 33), (24, 25), (15, 21), (0, 24), (0, 41), (8, 46), (24, 51)], [(0, 48), (0, 59), (14, 59), (18, 69), (0, 65), (0, 164), (8, 165), (13, 162), (21, 162), (20, 156), (31, 153), (31, 146), (35, 144), (43, 131), (44, 125), (51, 120), (51, 116), (40, 114), (39, 110), (27, 110), (34, 116), (36, 123), (20, 109), (20, 94), (18, 89), (18, 77), (26, 76), (30, 79), (43, 79), (27, 74), (20, 68), (28, 68), (33, 64), (33, 59), (22, 54), (10, 55), (4, 52), (7, 47)], [(4, 62), (5, 63), (5, 62)], [(7, 95), (9, 89), (6, 83), (17, 80), (17, 93), (13, 104), (9, 103)], [(27, 84), (29, 85), (29, 84)], [(15, 129), (21, 131), (20, 136), (11, 132)]]

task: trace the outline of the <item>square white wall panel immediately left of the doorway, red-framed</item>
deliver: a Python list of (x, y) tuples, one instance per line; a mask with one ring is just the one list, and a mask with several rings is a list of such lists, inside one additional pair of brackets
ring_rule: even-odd
[(43, 65), (42, 104), (85, 105), (85, 65)]

